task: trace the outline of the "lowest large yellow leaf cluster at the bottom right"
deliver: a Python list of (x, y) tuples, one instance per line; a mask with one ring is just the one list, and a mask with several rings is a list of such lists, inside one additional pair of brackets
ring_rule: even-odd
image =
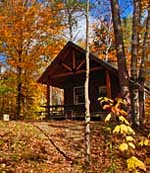
[(132, 156), (127, 160), (127, 167), (129, 171), (135, 171), (137, 169), (146, 171), (145, 164), (135, 156)]

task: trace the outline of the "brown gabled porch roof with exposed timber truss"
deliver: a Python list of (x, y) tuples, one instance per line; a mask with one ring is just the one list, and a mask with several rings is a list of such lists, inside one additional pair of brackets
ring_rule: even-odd
[[(64, 88), (65, 80), (71, 76), (85, 74), (86, 50), (69, 41), (38, 79), (39, 83)], [(111, 64), (90, 53), (90, 72), (108, 70), (114, 75), (118, 71)]]

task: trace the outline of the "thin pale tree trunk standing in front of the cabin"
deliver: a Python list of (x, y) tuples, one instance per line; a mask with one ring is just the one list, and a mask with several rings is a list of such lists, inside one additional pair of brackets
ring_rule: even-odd
[(90, 169), (90, 101), (89, 101), (89, 0), (86, 3), (86, 79), (85, 79), (85, 167)]

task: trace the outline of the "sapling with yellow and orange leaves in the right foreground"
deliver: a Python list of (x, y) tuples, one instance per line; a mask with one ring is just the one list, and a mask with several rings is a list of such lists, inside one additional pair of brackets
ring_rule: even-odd
[[(149, 157), (145, 157), (144, 161), (140, 160), (136, 150), (140, 150), (141, 147), (145, 147), (146, 150), (150, 147), (149, 134), (147, 134), (147, 137), (139, 135), (140, 137), (138, 136), (137, 140), (136, 131), (133, 130), (127, 119), (127, 102), (125, 100), (120, 98), (112, 100), (106, 97), (100, 97), (98, 100), (102, 108), (109, 112), (105, 122), (110, 123), (109, 132), (114, 137), (112, 147), (115, 148), (116, 145), (117, 148), (115, 149), (120, 150), (126, 158), (127, 170), (132, 173), (146, 172)], [(114, 118), (116, 118), (115, 124)]]

